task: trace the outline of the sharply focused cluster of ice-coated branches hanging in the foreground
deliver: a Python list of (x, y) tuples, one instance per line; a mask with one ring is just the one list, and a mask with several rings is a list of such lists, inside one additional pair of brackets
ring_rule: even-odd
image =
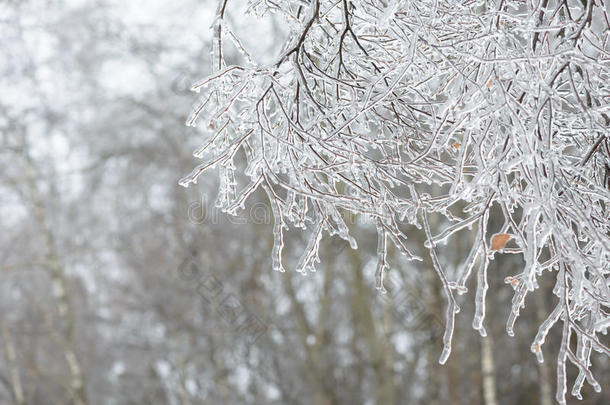
[[(314, 269), (322, 234), (356, 242), (343, 212), (367, 215), (378, 232), (377, 283), (388, 244), (408, 260), (404, 229), (423, 228), (447, 297), (441, 363), (451, 351), (455, 294), (476, 273), (473, 327), (485, 335), (487, 269), (497, 251), (523, 255), (506, 325), (537, 278), (552, 272), (557, 303), (532, 352), (559, 321), (557, 400), (565, 403), (566, 363), (586, 380), (592, 351), (610, 327), (610, 21), (607, 0), (290, 0), (250, 2), (291, 31), (273, 64), (260, 66), (234, 34), (220, 2), (214, 23), (215, 73), (193, 86), (205, 119), (205, 159), (181, 180), (220, 170), (219, 204), (229, 213), (262, 188), (275, 220), (274, 268), (283, 271), (283, 231), (311, 227), (298, 271)], [(229, 3), (229, 4), (227, 4)], [(226, 43), (244, 55), (227, 65)], [(236, 181), (243, 153), (250, 179)], [(238, 190), (239, 188), (239, 190)], [(465, 205), (465, 208), (464, 208)], [(490, 210), (504, 225), (488, 231)], [(430, 215), (448, 227), (432, 234)], [(475, 227), (456, 275), (436, 246)], [(507, 241), (509, 244), (506, 245)], [(576, 340), (576, 345), (571, 340)]]

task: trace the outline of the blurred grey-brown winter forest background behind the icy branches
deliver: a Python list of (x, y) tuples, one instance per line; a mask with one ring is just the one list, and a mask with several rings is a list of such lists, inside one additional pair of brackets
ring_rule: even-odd
[[(198, 102), (188, 89), (209, 73), (215, 7), (0, 2), (0, 403), (555, 403), (560, 331), (545, 363), (529, 351), (552, 279), (505, 332), (519, 257), (492, 262), (487, 338), (471, 327), (472, 289), (459, 297), (440, 366), (445, 302), (429, 262), (392, 255), (380, 294), (374, 226), (348, 218), (359, 250), (325, 237), (318, 272), (273, 272), (263, 196), (228, 218), (214, 176), (178, 186), (207, 136), (184, 123)], [(275, 55), (281, 25), (235, 10), (253, 32), (245, 45)], [(289, 235), (293, 267), (307, 236)], [(422, 233), (410, 237), (427, 257)], [(439, 249), (443, 263), (470, 243)], [(608, 359), (596, 360), (603, 391), (585, 386), (579, 403), (610, 403)]]

